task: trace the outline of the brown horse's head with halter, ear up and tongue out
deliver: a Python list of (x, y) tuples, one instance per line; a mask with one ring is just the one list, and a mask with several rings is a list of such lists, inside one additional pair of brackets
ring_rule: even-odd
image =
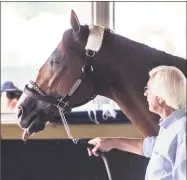
[(80, 25), (73, 11), (70, 22), (72, 28), (64, 32), (36, 81), (25, 86), (18, 102), (19, 125), (27, 134), (43, 130), (59, 111), (69, 113), (96, 96), (91, 61), (101, 47), (104, 30), (96, 26), (92, 35), (87, 25)]

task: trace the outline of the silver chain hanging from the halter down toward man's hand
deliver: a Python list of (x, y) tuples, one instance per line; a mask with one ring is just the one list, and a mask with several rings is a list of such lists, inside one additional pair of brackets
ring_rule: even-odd
[(77, 144), (77, 142), (79, 141), (79, 139), (76, 139), (76, 138), (73, 138), (71, 132), (70, 132), (70, 129), (69, 129), (69, 126), (68, 126), (68, 123), (66, 121), (66, 118), (64, 116), (64, 113), (63, 113), (63, 109), (60, 107), (60, 106), (57, 106), (58, 110), (59, 110), (59, 113), (60, 113), (60, 116), (61, 116), (61, 119), (62, 119), (62, 122), (64, 124), (64, 128), (66, 130), (66, 133), (68, 135), (68, 137), (73, 141), (74, 144)]

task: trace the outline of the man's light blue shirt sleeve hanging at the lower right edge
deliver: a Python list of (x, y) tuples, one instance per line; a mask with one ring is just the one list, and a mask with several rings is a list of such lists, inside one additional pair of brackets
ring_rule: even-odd
[(174, 180), (186, 179), (186, 160), (186, 133), (182, 133), (178, 137), (178, 146), (173, 168)]

